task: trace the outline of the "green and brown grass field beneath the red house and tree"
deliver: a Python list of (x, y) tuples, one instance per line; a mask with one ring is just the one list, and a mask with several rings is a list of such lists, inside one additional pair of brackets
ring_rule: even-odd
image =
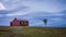
[(0, 37), (66, 37), (64, 27), (0, 27)]

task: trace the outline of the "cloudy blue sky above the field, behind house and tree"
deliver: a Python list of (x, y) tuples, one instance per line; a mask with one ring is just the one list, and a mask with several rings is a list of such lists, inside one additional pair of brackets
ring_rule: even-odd
[(66, 27), (66, 0), (0, 0), (0, 26), (14, 18), (28, 20), (30, 26)]

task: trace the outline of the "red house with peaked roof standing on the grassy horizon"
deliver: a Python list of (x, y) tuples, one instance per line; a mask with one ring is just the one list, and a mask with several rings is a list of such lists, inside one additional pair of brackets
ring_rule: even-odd
[(10, 26), (29, 26), (29, 21), (18, 20), (16, 17), (10, 22)]

